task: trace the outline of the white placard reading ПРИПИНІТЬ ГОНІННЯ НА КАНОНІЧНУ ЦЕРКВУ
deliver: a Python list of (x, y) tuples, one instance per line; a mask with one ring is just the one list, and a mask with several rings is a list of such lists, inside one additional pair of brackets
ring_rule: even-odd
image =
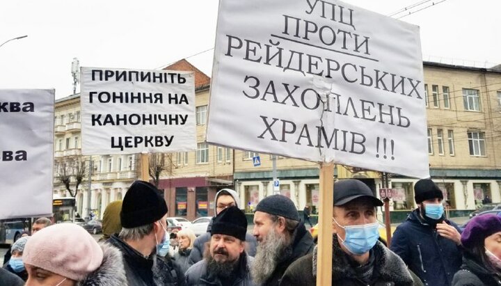
[(193, 72), (81, 67), (82, 154), (196, 150)]

